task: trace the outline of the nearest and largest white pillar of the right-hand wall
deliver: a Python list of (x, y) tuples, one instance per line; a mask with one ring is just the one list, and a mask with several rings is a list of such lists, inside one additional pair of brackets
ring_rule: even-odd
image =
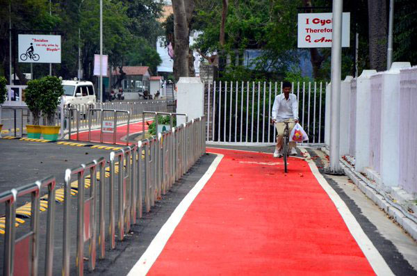
[(410, 63), (393, 63), (384, 73), (381, 106), (381, 180), (384, 186), (398, 186), (400, 159), (400, 69)]

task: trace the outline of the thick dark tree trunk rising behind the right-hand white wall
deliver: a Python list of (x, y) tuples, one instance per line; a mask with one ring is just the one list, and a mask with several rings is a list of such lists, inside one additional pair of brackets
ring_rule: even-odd
[(370, 69), (386, 70), (386, 0), (368, 0)]

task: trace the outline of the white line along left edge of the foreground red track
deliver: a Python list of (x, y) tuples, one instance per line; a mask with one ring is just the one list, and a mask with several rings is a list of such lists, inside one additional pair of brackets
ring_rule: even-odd
[(216, 168), (220, 164), (220, 161), (223, 158), (223, 154), (216, 154), (217, 157), (214, 159), (213, 163), (211, 163), (208, 170), (204, 173), (201, 179), (195, 184), (195, 186), (188, 192), (186, 197), (180, 202), (174, 212), (171, 214), (170, 218), (168, 218), (167, 222), (161, 227), (158, 234), (156, 234), (155, 238), (147, 247), (147, 250), (142, 254), (139, 261), (136, 262), (135, 266), (129, 271), (130, 276), (136, 275), (146, 275), (149, 269), (152, 267), (156, 259), (158, 258), (159, 254), (161, 254), (163, 247), (167, 243), (168, 239), (174, 232), (174, 229), (177, 227), (181, 218), (184, 216), (188, 207), (190, 207), (191, 203), (195, 200), (195, 197), (199, 194), (199, 192), (204, 188), (208, 179), (211, 178), (213, 173), (215, 172)]

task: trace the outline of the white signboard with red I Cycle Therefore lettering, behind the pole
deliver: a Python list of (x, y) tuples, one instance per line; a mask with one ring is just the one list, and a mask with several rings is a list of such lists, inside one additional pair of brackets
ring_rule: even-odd
[[(350, 45), (350, 13), (343, 13), (342, 47)], [(298, 14), (298, 48), (332, 47), (332, 13)]]

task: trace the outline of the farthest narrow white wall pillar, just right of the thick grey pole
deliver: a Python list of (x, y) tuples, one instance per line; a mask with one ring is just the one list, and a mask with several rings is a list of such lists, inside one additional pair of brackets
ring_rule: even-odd
[(341, 83), (341, 123), (340, 123), (340, 154), (349, 154), (349, 130), (350, 130), (350, 81), (352, 76), (346, 76)]

